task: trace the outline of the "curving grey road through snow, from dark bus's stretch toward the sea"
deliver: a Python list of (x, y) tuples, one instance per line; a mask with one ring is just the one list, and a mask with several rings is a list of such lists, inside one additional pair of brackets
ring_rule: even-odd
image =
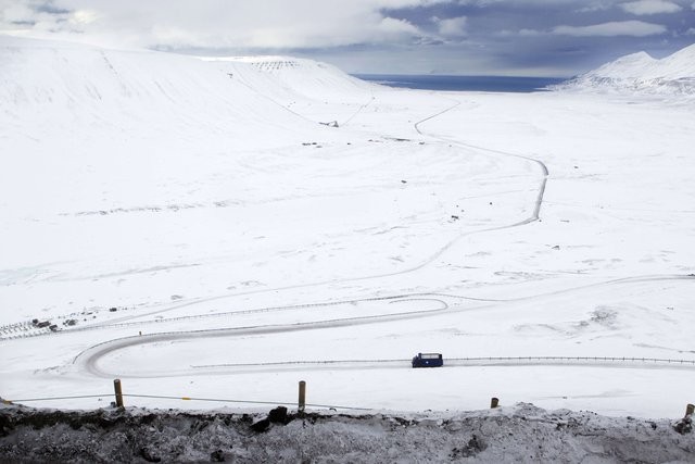
[[(455, 104), (446, 108), (443, 111), (440, 111), (435, 114), (432, 114), (428, 117), (425, 117), (420, 121), (418, 121), (417, 123), (415, 123), (415, 129), (424, 136), (430, 137), (437, 141), (440, 141), (442, 143), (447, 143), (447, 145), (455, 145), (462, 148), (467, 148), (467, 149), (475, 149), (477, 151), (484, 151), (490, 153), (493, 156), (513, 156), (513, 158), (518, 158), (518, 159), (523, 159), (529, 161), (530, 163), (534, 164), (535, 166), (538, 166), (539, 170), (539, 179), (538, 179), (538, 195), (535, 198), (535, 204), (533, 208), (533, 212), (532, 214), (530, 214), (528, 217), (522, 218), (521, 221), (517, 221), (513, 224), (508, 224), (508, 225), (503, 225), (503, 226), (497, 226), (497, 227), (491, 227), (491, 228), (485, 228), (485, 229), (480, 229), (480, 230), (475, 230), (475, 231), (469, 231), (469, 233), (465, 233), (459, 235), (458, 237), (456, 237), (455, 239), (453, 239), (452, 241), (450, 241), (448, 243), (446, 243), (445, 246), (443, 246), (442, 248), (440, 248), (439, 250), (437, 250), (434, 253), (432, 253), (427, 260), (425, 260), (424, 262), (408, 267), (406, 269), (402, 269), (395, 273), (383, 273), (383, 274), (376, 274), (376, 275), (370, 275), (370, 276), (361, 276), (361, 277), (354, 277), (354, 278), (346, 278), (346, 279), (341, 279), (341, 280), (327, 280), (327, 281), (320, 281), (320, 283), (312, 283), (312, 284), (304, 284), (301, 286), (290, 286), (290, 287), (285, 287), (285, 288), (276, 288), (273, 289), (273, 291), (281, 291), (281, 290), (286, 290), (286, 289), (295, 289), (295, 288), (302, 288), (302, 287), (314, 287), (314, 286), (320, 286), (320, 285), (326, 285), (326, 284), (337, 284), (337, 283), (349, 283), (349, 281), (357, 281), (357, 280), (367, 280), (367, 279), (375, 279), (375, 278), (381, 278), (381, 277), (389, 277), (389, 276), (397, 276), (397, 275), (403, 275), (406, 273), (412, 273), (415, 272), (417, 269), (420, 269), (431, 263), (433, 263), (438, 258), (440, 258), (444, 252), (446, 252), (450, 248), (452, 248), (457, 241), (459, 241), (462, 238), (473, 235), (473, 234), (483, 234), (483, 233), (489, 233), (489, 231), (493, 231), (493, 230), (501, 230), (501, 229), (508, 229), (508, 228), (513, 228), (513, 227), (519, 227), (519, 226), (523, 226), (526, 224), (530, 224), (532, 222), (539, 221), (540, 218), (540, 212), (541, 212), (541, 208), (543, 204), (543, 197), (544, 197), (544, 192), (545, 192), (545, 188), (546, 188), (546, 184), (547, 184), (547, 179), (548, 179), (548, 170), (545, 166), (545, 164), (540, 161), (540, 160), (535, 160), (529, 156), (525, 156), (518, 153), (510, 153), (510, 152), (504, 152), (504, 151), (498, 151), (498, 150), (492, 150), (492, 149), (486, 149), (484, 147), (478, 147), (478, 146), (472, 146), (472, 145), (467, 145), (464, 142), (460, 142), (458, 140), (452, 140), (452, 139), (447, 139), (444, 137), (439, 137), (439, 136), (434, 136), (434, 135), (429, 135), (427, 133), (425, 133), (421, 129), (421, 125), (426, 122), (429, 122), (442, 114), (445, 114), (454, 109), (456, 109), (457, 106), (460, 105), (460, 102), (456, 102)], [(558, 291), (554, 291), (551, 293), (544, 293), (544, 294), (538, 294), (538, 296), (532, 296), (532, 297), (525, 297), (525, 298), (520, 298), (520, 299), (516, 299), (516, 300), (511, 300), (511, 301), (520, 301), (520, 300), (532, 300), (534, 298), (541, 298), (547, 294), (557, 294), (557, 293), (565, 293), (565, 292), (572, 292), (572, 291), (578, 291), (581, 289), (585, 289), (585, 288), (590, 288), (590, 287), (596, 287), (596, 286), (607, 286), (607, 285), (617, 285), (620, 283), (626, 283), (626, 281), (641, 281), (641, 280), (670, 280), (670, 279), (683, 279), (683, 278), (687, 278), (687, 277), (683, 277), (683, 276), (642, 276), (642, 277), (636, 277), (636, 278), (628, 278), (628, 279), (616, 279), (616, 280), (611, 280), (611, 281), (606, 281), (606, 283), (601, 283), (601, 284), (593, 284), (593, 285), (589, 285), (589, 286), (582, 286), (576, 289), (569, 289), (569, 290), (558, 290)], [(245, 292), (245, 293), (235, 293), (235, 296), (239, 296), (239, 294), (251, 294), (251, 293), (256, 293), (256, 292), (267, 292), (270, 290), (258, 290), (258, 291), (251, 291), (251, 292)], [(222, 298), (227, 298), (228, 296), (222, 296), (222, 297), (214, 297), (211, 299), (207, 299), (205, 301), (210, 301), (210, 300), (216, 300), (216, 299), (222, 299)], [(337, 327), (346, 327), (346, 326), (359, 326), (359, 325), (368, 325), (368, 324), (376, 324), (376, 323), (383, 323), (383, 322), (392, 322), (392, 321), (402, 321), (402, 319), (414, 319), (414, 318), (418, 318), (418, 317), (430, 317), (430, 316), (435, 316), (435, 315), (440, 315), (443, 314), (445, 312), (462, 312), (462, 311), (472, 311), (472, 310), (480, 310), (483, 308), (489, 308), (492, 304), (495, 303), (501, 303), (502, 301), (500, 300), (479, 300), (479, 302), (481, 304), (476, 305), (476, 306), (452, 306), (450, 304), (450, 302), (447, 302), (447, 300), (451, 300), (453, 298), (460, 298), (460, 299), (465, 299), (466, 297), (455, 297), (455, 296), (441, 296), (441, 294), (428, 294), (428, 293), (412, 293), (412, 294), (401, 294), (397, 297), (387, 297), (387, 298), (381, 298), (381, 299), (365, 299), (365, 300), (354, 300), (354, 301), (376, 301), (376, 300), (382, 300), (382, 301), (391, 301), (393, 303), (397, 303), (397, 302), (403, 302), (403, 301), (412, 301), (413, 299), (419, 299), (420, 301), (427, 301), (427, 302), (435, 302), (437, 303), (437, 308), (434, 309), (427, 309), (427, 310), (416, 310), (416, 311), (403, 311), (403, 312), (395, 312), (395, 313), (388, 313), (388, 314), (375, 314), (375, 315), (368, 315), (368, 316), (357, 316), (357, 317), (343, 317), (343, 318), (330, 318), (330, 319), (321, 319), (321, 321), (311, 321), (311, 322), (300, 322), (300, 323), (293, 323), (293, 324), (269, 324), (269, 325), (255, 325), (255, 326), (240, 326), (240, 327), (226, 327), (226, 328), (216, 328), (216, 329), (204, 329), (204, 330), (189, 330), (189, 331), (169, 331), (169, 333), (159, 333), (159, 334), (151, 334), (151, 335), (147, 335), (147, 336), (135, 336), (135, 337), (126, 337), (126, 338), (121, 338), (121, 339), (115, 339), (115, 340), (110, 340), (93, 347), (90, 347), (89, 349), (85, 350), (84, 352), (79, 353), (75, 360), (74, 363), (78, 366), (79, 369), (86, 371), (91, 375), (96, 375), (96, 376), (100, 376), (100, 377), (106, 377), (106, 378), (111, 378), (115, 375), (115, 373), (109, 372), (109, 371), (104, 371), (99, 366), (100, 361), (104, 358), (108, 356), (110, 354), (113, 354), (114, 352), (122, 350), (122, 349), (126, 349), (126, 348), (130, 348), (134, 346), (139, 346), (139, 344), (150, 344), (150, 343), (156, 343), (156, 342), (162, 342), (162, 341), (166, 341), (166, 342), (170, 342), (170, 341), (176, 341), (176, 340), (185, 340), (185, 339), (197, 339), (197, 338), (215, 338), (215, 337), (240, 337), (240, 336), (249, 336), (249, 335), (267, 335), (267, 336), (271, 336), (275, 334), (285, 334), (285, 333), (291, 333), (291, 331), (301, 331), (301, 330), (319, 330), (319, 329), (328, 329), (328, 328), (337, 328)], [(473, 299), (475, 300), (475, 299)], [(203, 300), (199, 300), (199, 301), (194, 301), (194, 302), (189, 302), (189, 303), (185, 303), (185, 304), (179, 304), (179, 305), (175, 305), (172, 308), (168, 308), (166, 310), (162, 310), (162, 311), (156, 311), (156, 312), (152, 312), (152, 313), (148, 313), (148, 315), (152, 315), (152, 314), (159, 314), (161, 312), (164, 311), (170, 311), (174, 308), (182, 308), (186, 305), (191, 305), (191, 304), (198, 304)], [(311, 306), (327, 306), (330, 304), (341, 304), (344, 302), (332, 302), (332, 303), (316, 303), (316, 304), (312, 304)], [(300, 305), (302, 306), (302, 305)], [(288, 310), (288, 309), (298, 309), (300, 308), (298, 305), (293, 305), (293, 306), (277, 306), (277, 308), (271, 308), (271, 309), (261, 309), (261, 310), (254, 310), (254, 311), (282, 311), (282, 310)], [(244, 312), (240, 312), (240, 313), (244, 313)], [(223, 313), (223, 314), (229, 314), (229, 313)], [(214, 317), (218, 314), (211, 314), (211, 317)], [(138, 317), (142, 317), (142, 315), (138, 316)], [(187, 316), (184, 316), (182, 318), (186, 318)], [(201, 317), (201, 316), (191, 316), (191, 317)], [(174, 318), (172, 321), (175, 321), (178, 318)], [(125, 325), (129, 325), (129, 324), (142, 324), (141, 322), (132, 322), (132, 323), (122, 323), (122, 324), (114, 324), (112, 323), (108, 323), (104, 324), (103, 327), (115, 327), (115, 326), (125, 326)], [(233, 375), (233, 374), (240, 374), (240, 373), (245, 373), (245, 372), (253, 372), (253, 373), (271, 373), (271, 372), (278, 372), (278, 371), (287, 371), (287, 369), (301, 369), (301, 371), (312, 371), (312, 369), (364, 369), (364, 368), (404, 368), (408, 366), (408, 361), (409, 360), (317, 360), (317, 361), (288, 361), (288, 362), (275, 362), (275, 363), (249, 363), (249, 364), (215, 364), (215, 365), (204, 365), (204, 364), (200, 364), (200, 365), (191, 365), (189, 368), (184, 369), (182, 372), (178, 372), (177, 374), (162, 374), (162, 376), (167, 376), (167, 375), (195, 375), (195, 374), (201, 374), (201, 373), (211, 373), (214, 372), (216, 374), (224, 374), (224, 375)], [(650, 363), (650, 364), (649, 364)], [(648, 365), (647, 365), (648, 364)], [(543, 366), (557, 366), (557, 365), (591, 365), (591, 366), (628, 366), (628, 367), (632, 367), (632, 368), (682, 368), (682, 367), (687, 367), (687, 368), (693, 368), (693, 364), (694, 362), (692, 361), (686, 361), (686, 360), (647, 360), (646, 362), (640, 362), (640, 360), (626, 360), (624, 358), (619, 359), (619, 358), (611, 358), (611, 359), (570, 359), (570, 358), (559, 358), (559, 356), (553, 356), (553, 355), (548, 355), (548, 356), (540, 356), (540, 358), (534, 358), (534, 359), (530, 359), (530, 358), (519, 358), (519, 359), (515, 359), (515, 358), (500, 358), (500, 359), (447, 359), (446, 360), (446, 365), (450, 367), (464, 367), (464, 366), (471, 366), (471, 365), (486, 365), (486, 366), (518, 366), (518, 365), (543, 365)], [(128, 377), (129, 374), (128, 372), (119, 372), (118, 373), (121, 376), (124, 377)], [(137, 373), (131, 373), (130, 376), (132, 377), (137, 377), (138, 374)]]

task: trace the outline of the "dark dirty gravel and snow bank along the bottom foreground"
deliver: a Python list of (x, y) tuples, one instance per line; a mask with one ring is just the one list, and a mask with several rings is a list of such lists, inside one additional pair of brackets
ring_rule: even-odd
[(695, 462), (690, 423), (518, 404), (471, 413), (0, 406), (0, 462)]

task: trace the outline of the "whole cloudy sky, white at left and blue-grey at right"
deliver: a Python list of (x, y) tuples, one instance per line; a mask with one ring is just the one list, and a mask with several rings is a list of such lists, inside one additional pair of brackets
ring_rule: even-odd
[(0, 33), (351, 73), (564, 77), (694, 43), (695, 0), (0, 0)]

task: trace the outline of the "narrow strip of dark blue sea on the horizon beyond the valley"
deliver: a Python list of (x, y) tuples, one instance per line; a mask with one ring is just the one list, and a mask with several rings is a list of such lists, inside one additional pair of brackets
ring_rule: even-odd
[(533, 92), (546, 86), (567, 80), (565, 77), (508, 77), (508, 76), (435, 76), (354, 74), (363, 80), (389, 87), (424, 90), (488, 91), (488, 92)]

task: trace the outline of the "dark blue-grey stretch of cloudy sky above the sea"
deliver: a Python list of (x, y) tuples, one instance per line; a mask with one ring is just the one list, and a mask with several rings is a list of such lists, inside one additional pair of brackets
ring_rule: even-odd
[(433, 35), (441, 35), (442, 18), (465, 17), (465, 35), (443, 37), (458, 42), (452, 51), (484, 55), (490, 67), (510, 73), (570, 75), (627, 53), (658, 58), (695, 41), (695, 11), (685, 0), (459, 1), (389, 13)]

